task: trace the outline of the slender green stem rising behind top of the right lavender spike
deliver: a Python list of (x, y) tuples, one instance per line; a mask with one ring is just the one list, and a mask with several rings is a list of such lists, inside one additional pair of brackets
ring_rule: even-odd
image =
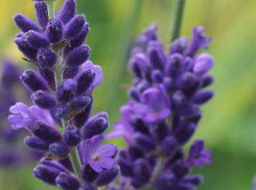
[(175, 0), (174, 14), (171, 21), (171, 41), (179, 38), (185, 2), (186, 0)]

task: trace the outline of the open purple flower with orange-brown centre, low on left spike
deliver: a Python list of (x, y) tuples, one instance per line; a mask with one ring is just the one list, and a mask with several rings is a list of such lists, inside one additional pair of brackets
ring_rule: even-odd
[(91, 139), (87, 139), (82, 147), (83, 164), (89, 164), (94, 171), (100, 173), (103, 169), (111, 169), (115, 165), (114, 156), (117, 147), (113, 144), (103, 144), (104, 137), (95, 135)]

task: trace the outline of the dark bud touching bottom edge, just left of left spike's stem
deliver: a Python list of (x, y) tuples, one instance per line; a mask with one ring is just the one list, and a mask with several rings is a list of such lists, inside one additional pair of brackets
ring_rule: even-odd
[(79, 181), (64, 172), (60, 173), (59, 176), (55, 179), (57, 187), (63, 190), (77, 190), (80, 187)]

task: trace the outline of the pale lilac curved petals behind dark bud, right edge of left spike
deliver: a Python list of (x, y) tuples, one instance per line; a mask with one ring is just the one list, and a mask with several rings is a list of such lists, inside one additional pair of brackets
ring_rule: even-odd
[(99, 86), (103, 82), (103, 69), (100, 66), (94, 65), (92, 61), (85, 61), (82, 64), (81, 71), (85, 71), (86, 69), (92, 69), (95, 72), (95, 78), (93, 79), (93, 84), (85, 91), (86, 96), (91, 96), (93, 94), (93, 89), (96, 86)]

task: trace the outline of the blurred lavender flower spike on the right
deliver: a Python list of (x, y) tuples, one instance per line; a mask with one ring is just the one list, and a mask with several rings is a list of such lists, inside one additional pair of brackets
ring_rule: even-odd
[(129, 61), (136, 76), (128, 91), (131, 101), (120, 108), (121, 119), (107, 134), (128, 144), (118, 156), (120, 189), (191, 190), (202, 183), (189, 171), (210, 163), (211, 152), (201, 139), (191, 144), (189, 156), (183, 147), (202, 117), (200, 106), (214, 95), (205, 89), (213, 82), (207, 72), (214, 60), (196, 54), (210, 41), (202, 26), (194, 27), (191, 41), (176, 39), (166, 54), (155, 24), (138, 39)]

